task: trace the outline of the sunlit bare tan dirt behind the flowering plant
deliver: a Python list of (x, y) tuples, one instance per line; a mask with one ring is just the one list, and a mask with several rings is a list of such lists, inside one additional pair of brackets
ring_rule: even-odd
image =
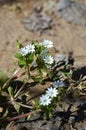
[[(45, 10), (49, 7), (49, 1), (47, 1)], [(15, 68), (14, 54), (17, 52), (17, 39), (23, 44), (26, 44), (27, 39), (52, 40), (60, 53), (68, 54), (73, 50), (75, 65), (86, 65), (86, 27), (73, 25), (59, 18), (56, 4), (55, 8), (46, 11), (52, 17), (54, 25), (52, 29), (44, 31), (42, 34), (27, 31), (22, 24), (22, 19), (29, 17), (36, 5), (45, 5), (45, 0), (22, 0), (11, 5), (0, 6), (0, 70), (6, 70), (10, 74)]]

